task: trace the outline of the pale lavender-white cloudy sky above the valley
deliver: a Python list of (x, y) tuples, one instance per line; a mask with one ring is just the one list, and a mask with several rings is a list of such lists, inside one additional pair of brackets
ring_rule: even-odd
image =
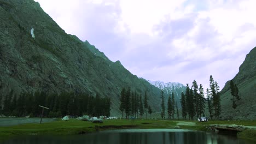
[(68, 34), (151, 81), (234, 78), (256, 46), (255, 0), (34, 0)]

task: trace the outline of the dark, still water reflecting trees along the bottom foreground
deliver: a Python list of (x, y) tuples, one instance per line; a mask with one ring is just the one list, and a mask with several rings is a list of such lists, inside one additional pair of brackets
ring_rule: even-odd
[[(154, 131), (154, 132), (153, 132)], [(92, 133), (78, 136), (26, 136), (17, 137), (12, 140), (4, 141), (8, 144), (24, 143), (206, 143), (206, 144), (251, 144), (252, 142), (240, 140), (236, 137), (217, 135), (215, 133), (205, 133), (202, 131), (183, 131), (172, 129), (158, 130), (111, 130), (100, 133)]]

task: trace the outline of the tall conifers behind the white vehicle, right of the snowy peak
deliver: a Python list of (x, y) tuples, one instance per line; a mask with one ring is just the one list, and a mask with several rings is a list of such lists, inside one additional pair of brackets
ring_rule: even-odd
[(218, 82), (214, 81), (213, 77), (210, 76), (210, 89), (206, 89), (206, 98), (201, 84), (198, 86), (194, 80), (191, 88), (189, 88), (187, 83), (185, 93), (182, 92), (181, 94), (181, 105), (182, 117), (184, 119), (187, 119), (187, 116), (191, 120), (194, 117), (199, 118), (205, 116), (206, 105), (210, 113), (210, 118), (219, 119), (221, 105)]

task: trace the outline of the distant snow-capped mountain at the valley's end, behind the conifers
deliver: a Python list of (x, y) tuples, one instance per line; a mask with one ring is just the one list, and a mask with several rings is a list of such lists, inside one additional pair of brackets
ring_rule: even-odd
[[(162, 82), (162, 81), (149, 81), (152, 85), (160, 88), (167, 95), (174, 93), (174, 99), (177, 101), (178, 107), (181, 106), (179, 100), (181, 99), (181, 93), (185, 93), (186, 87), (182, 83), (178, 82)], [(166, 97), (166, 101), (167, 101)]]

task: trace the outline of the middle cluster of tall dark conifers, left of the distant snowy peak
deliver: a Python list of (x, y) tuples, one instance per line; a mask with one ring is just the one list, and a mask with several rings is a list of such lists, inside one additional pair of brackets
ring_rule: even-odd
[(148, 118), (147, 113), (149, 113), (149, 118), (151, 118), (152, 109), (148, 104), (148, 94), (147, 91), (144, 92), (144, 97), (142, 98), (142, 94), (135, 92), (131, 92), (131, 88), (123, 88), (120, 92), (120, 106), (119, 110), (122, 113), (122, 117), (124, 118), (135, 118), (140, 117), (146, 113), (146, 118)]

